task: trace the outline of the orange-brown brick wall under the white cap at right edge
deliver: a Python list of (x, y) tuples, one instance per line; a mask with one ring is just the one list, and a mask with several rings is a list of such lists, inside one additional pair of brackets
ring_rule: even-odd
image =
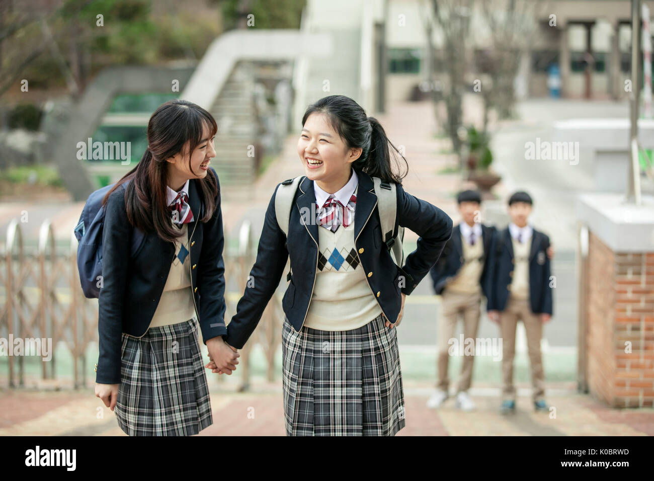
[(654, 253), (613, 253), (591, 232), (588, 277), (589, 389), (611, 406), (652, 407)]

